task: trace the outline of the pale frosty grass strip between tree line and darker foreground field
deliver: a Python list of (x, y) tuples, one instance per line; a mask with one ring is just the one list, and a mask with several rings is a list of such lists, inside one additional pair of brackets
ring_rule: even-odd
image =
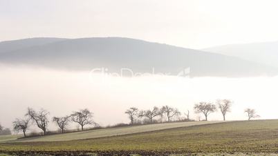
[(0, 142), (57, 142), (69, 141), (75, 139), (93, 139), (98, 137), (111, 137), (116, 135), (129, 135), (133, 133), (145, 133), (154, 130), (164, 130), (169, 128), (179, 128), (185, 126), (194, 126), (202, 124), (215, 124), (221, 121), (191, 121), (191, 122), (172, 122), (163, 124), (148, 124), (140, 126), (125, 126), (118, 128), (103, 128), (98, 130), (86, 130), (83, 132), (65, 133), (58, 135), (47, 135), (44, 137), (28, 137), (26, 139), (17, 139), (21, 135), (0, 136)]

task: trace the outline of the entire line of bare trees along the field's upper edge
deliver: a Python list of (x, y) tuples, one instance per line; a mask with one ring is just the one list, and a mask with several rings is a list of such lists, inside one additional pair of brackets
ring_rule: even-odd
[[(219, 99), (215, 104), (210, 102), (199, 102), (195, 104), (194, 110), (195, 113), (203, 113), (205, 116), (205, 121), (207, 121), (208, 115), (210, 113), (216, 112), (217, 108), (221, 111), (223, 115), (223, 120), (225, 121), (225, 115), (231, 111), (232, 101), (229, 99)], [(256, 114), (254, 109), (247, 108), (244, 111), (248, 114), (248, 120), (259, 117)], [(126, 113), (130, 119), (130, 124), (135, 124), (136, 119), (145, 118), (148, 120), (148, 123), (153, 123), (156, 117), (159, 117), (160, 121), (163, 122), (163, 118), (166, 117), (166, 121), (172, 121), (174, 117), (179, 117), (181, 115), (180, 111), (177, 108), (172, 106), (162, 106), (158, 108), (154, 106), (149, 110), (139, 110), (138, 108), (132, 107), (126, 110)], [(33, 108), (28, 108), (25, 118), (15, 119), (13, 124), (13, 129), (15, 132), (21, 131), (26, 137), (26, 130), (33, 124), (42, 130), (43, 135), (46, 135), (49, 123), (50, 113), (47, 110), (41, 109), (39, 111), (34, 110)], [(189, 110), (185, 113), (185, 119), (189, 121)], [(71, 115), (66, 115), (64, 117), (53, 117), (52, 121), (59, 127), (61, 133), (64, 133), (66, 128), (71, 122), (75, 122), (81, 126), (81, 130), (84, 130), (86, 125), (95, 125), (98, 124), (93, 121), (93, 113), (88, 109), (83, 109), (79, 111), (74, 111)], [(3, 127), (0, 125), (0, 131)]]

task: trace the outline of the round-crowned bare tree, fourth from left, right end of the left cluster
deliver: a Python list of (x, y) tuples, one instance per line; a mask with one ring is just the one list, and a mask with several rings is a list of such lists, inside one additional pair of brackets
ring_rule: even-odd
[(95, 124), (93, 121), (93, 113), (88, 109), (73, 112), (73, 114), (71, 114), (71, 120), (80, 124), (81, 130), (83, 130), (86, 125)]

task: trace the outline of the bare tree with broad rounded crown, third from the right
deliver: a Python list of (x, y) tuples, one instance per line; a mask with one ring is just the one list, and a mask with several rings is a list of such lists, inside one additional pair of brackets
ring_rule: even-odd
[(203, 113), (205, 115), (205, 121), (207, 121), (207, 116), (216, 111), (216, 106), (209, 102), (200, 102), (199, 104), (195, 104), (194, 110), (195, 113)]

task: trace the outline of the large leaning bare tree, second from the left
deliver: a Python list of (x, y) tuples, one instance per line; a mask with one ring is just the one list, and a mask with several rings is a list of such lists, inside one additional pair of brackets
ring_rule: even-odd
[(35, 124), (37, 124), (37, 127), (44, 132), (44, 135), (46, 135), (46, 129), (49, 122), (48, 115), (49, 112), (44, 109), (36, 112), (35, 110), (33, 110), (33, 108), (28, 108), (28, 111), (26, 113), (26, 116), (29, 117), (33, 122), (35, 122)]

